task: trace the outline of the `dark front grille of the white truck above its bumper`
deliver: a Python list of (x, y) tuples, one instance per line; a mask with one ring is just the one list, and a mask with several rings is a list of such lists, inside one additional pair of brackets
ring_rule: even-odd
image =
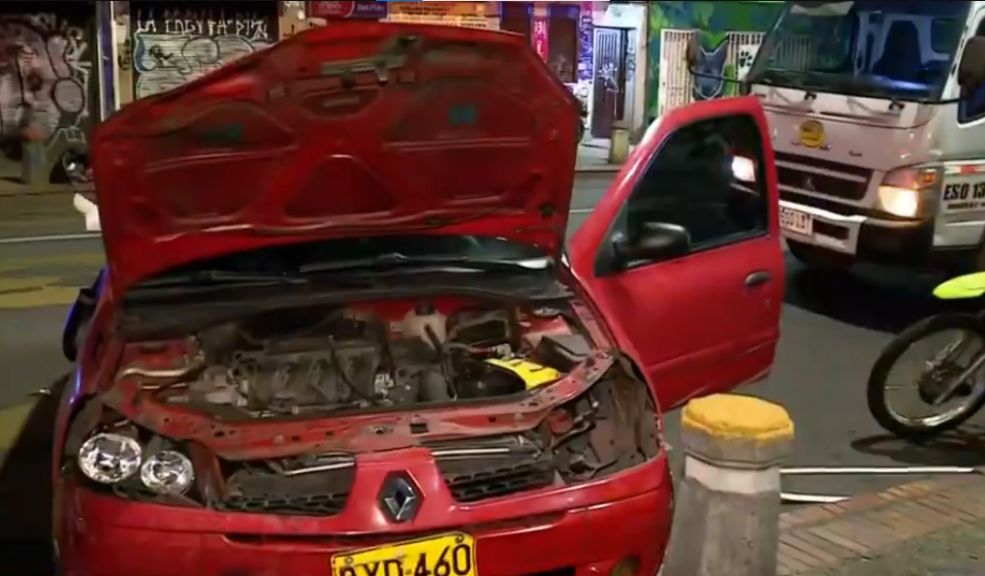
[(844, 200), (861, 200), (872, 170), (829, 160), (776, 153), (776, 174), (784, 193), (823, 194)]

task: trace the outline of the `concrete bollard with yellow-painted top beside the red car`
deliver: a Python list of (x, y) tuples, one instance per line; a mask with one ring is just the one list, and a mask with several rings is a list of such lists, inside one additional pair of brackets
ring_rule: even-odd
[(684, 408), (665, 576), (775, 576), (780, 461), (793, 441), (782, 407), (715, 395)]

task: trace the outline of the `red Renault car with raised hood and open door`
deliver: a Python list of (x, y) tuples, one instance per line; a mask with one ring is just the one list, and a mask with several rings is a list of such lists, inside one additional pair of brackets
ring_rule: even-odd
[(773, 361), (773, 152), (671, 112), (566, 255), (578, 123), (520, 36), (362, 22), (103, 123), (62, 572), (654, 574), (660, 409)]

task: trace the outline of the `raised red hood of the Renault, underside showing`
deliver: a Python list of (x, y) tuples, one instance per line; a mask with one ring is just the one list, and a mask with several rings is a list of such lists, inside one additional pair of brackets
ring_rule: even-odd
[(344, 236), (489, 235), (557, 253), (579, 109), (519, 35), (378, 22), (298, 34), (97, 128), (113, 290)]

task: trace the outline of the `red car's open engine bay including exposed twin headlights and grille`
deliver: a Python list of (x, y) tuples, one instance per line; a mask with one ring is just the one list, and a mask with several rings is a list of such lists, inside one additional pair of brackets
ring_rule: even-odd
[[(154, 333), (123, 346), (116, 385), (73, 418), (63, 465), (122, 498), (304, 516), (345, 509), (365, 446), (427, 448), (459, 502), (604, 478), (659, 453), (656, 406), (568, 306), (377, 300)], [(437, 432), (460, 402), (482, 418)], [(397, 433), (386, 412), (414, 416)]]

